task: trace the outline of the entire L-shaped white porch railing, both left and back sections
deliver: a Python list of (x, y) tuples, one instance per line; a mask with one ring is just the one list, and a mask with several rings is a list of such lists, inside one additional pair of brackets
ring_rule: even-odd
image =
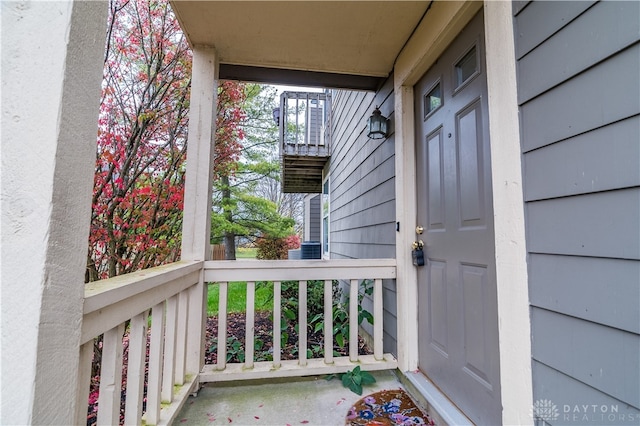
[[(199, 383), (242, 379), (340, 373), (360, 365), (364, 370), (393, 369), (397, 361), (383, 353), (382, 280), (394, 279), (395, 260), (291, 260), (177, 262), (87, 284), (80, 344), (76, 423), (87, 416), (92, 363), (101, 359), (97, 424), (118, 424), (122, 391), (125, 424), (170, 424)], [(373, 284), (373, 354), (358, 354), (358, 289)], [(324, 351), (307, 359), (307, 283), (324, 285)], [(349, 352), (334, 356), (333, 283), (349, 286)], [(226, 362), (227, 286), (247, 283), (245, 362)], [(273, 359), (254, 362), (256, 282), (273, 282)], [(281, 286), (298, 286), (298, 358), (281, 359)], [(220, 286), (217, 363), (204, 363), (205, 282)], [(101, 348), (94, 354), (96, 339)], [(100, 345), (98, 345), (100, 346)], [(124, 349), (126, 348), (126, 350)], [(148, 356), (147, 356), (148, 353)], [(126, 363), (123, 356), (127, 355)], [(123, 381), (123, 364), (126, 380)], [(147, 380), (145, 393), (145, 376)], [(123, 385), (124, 383), (124, 385)], [(146, 404), (146, 407), (144, 406)]]

